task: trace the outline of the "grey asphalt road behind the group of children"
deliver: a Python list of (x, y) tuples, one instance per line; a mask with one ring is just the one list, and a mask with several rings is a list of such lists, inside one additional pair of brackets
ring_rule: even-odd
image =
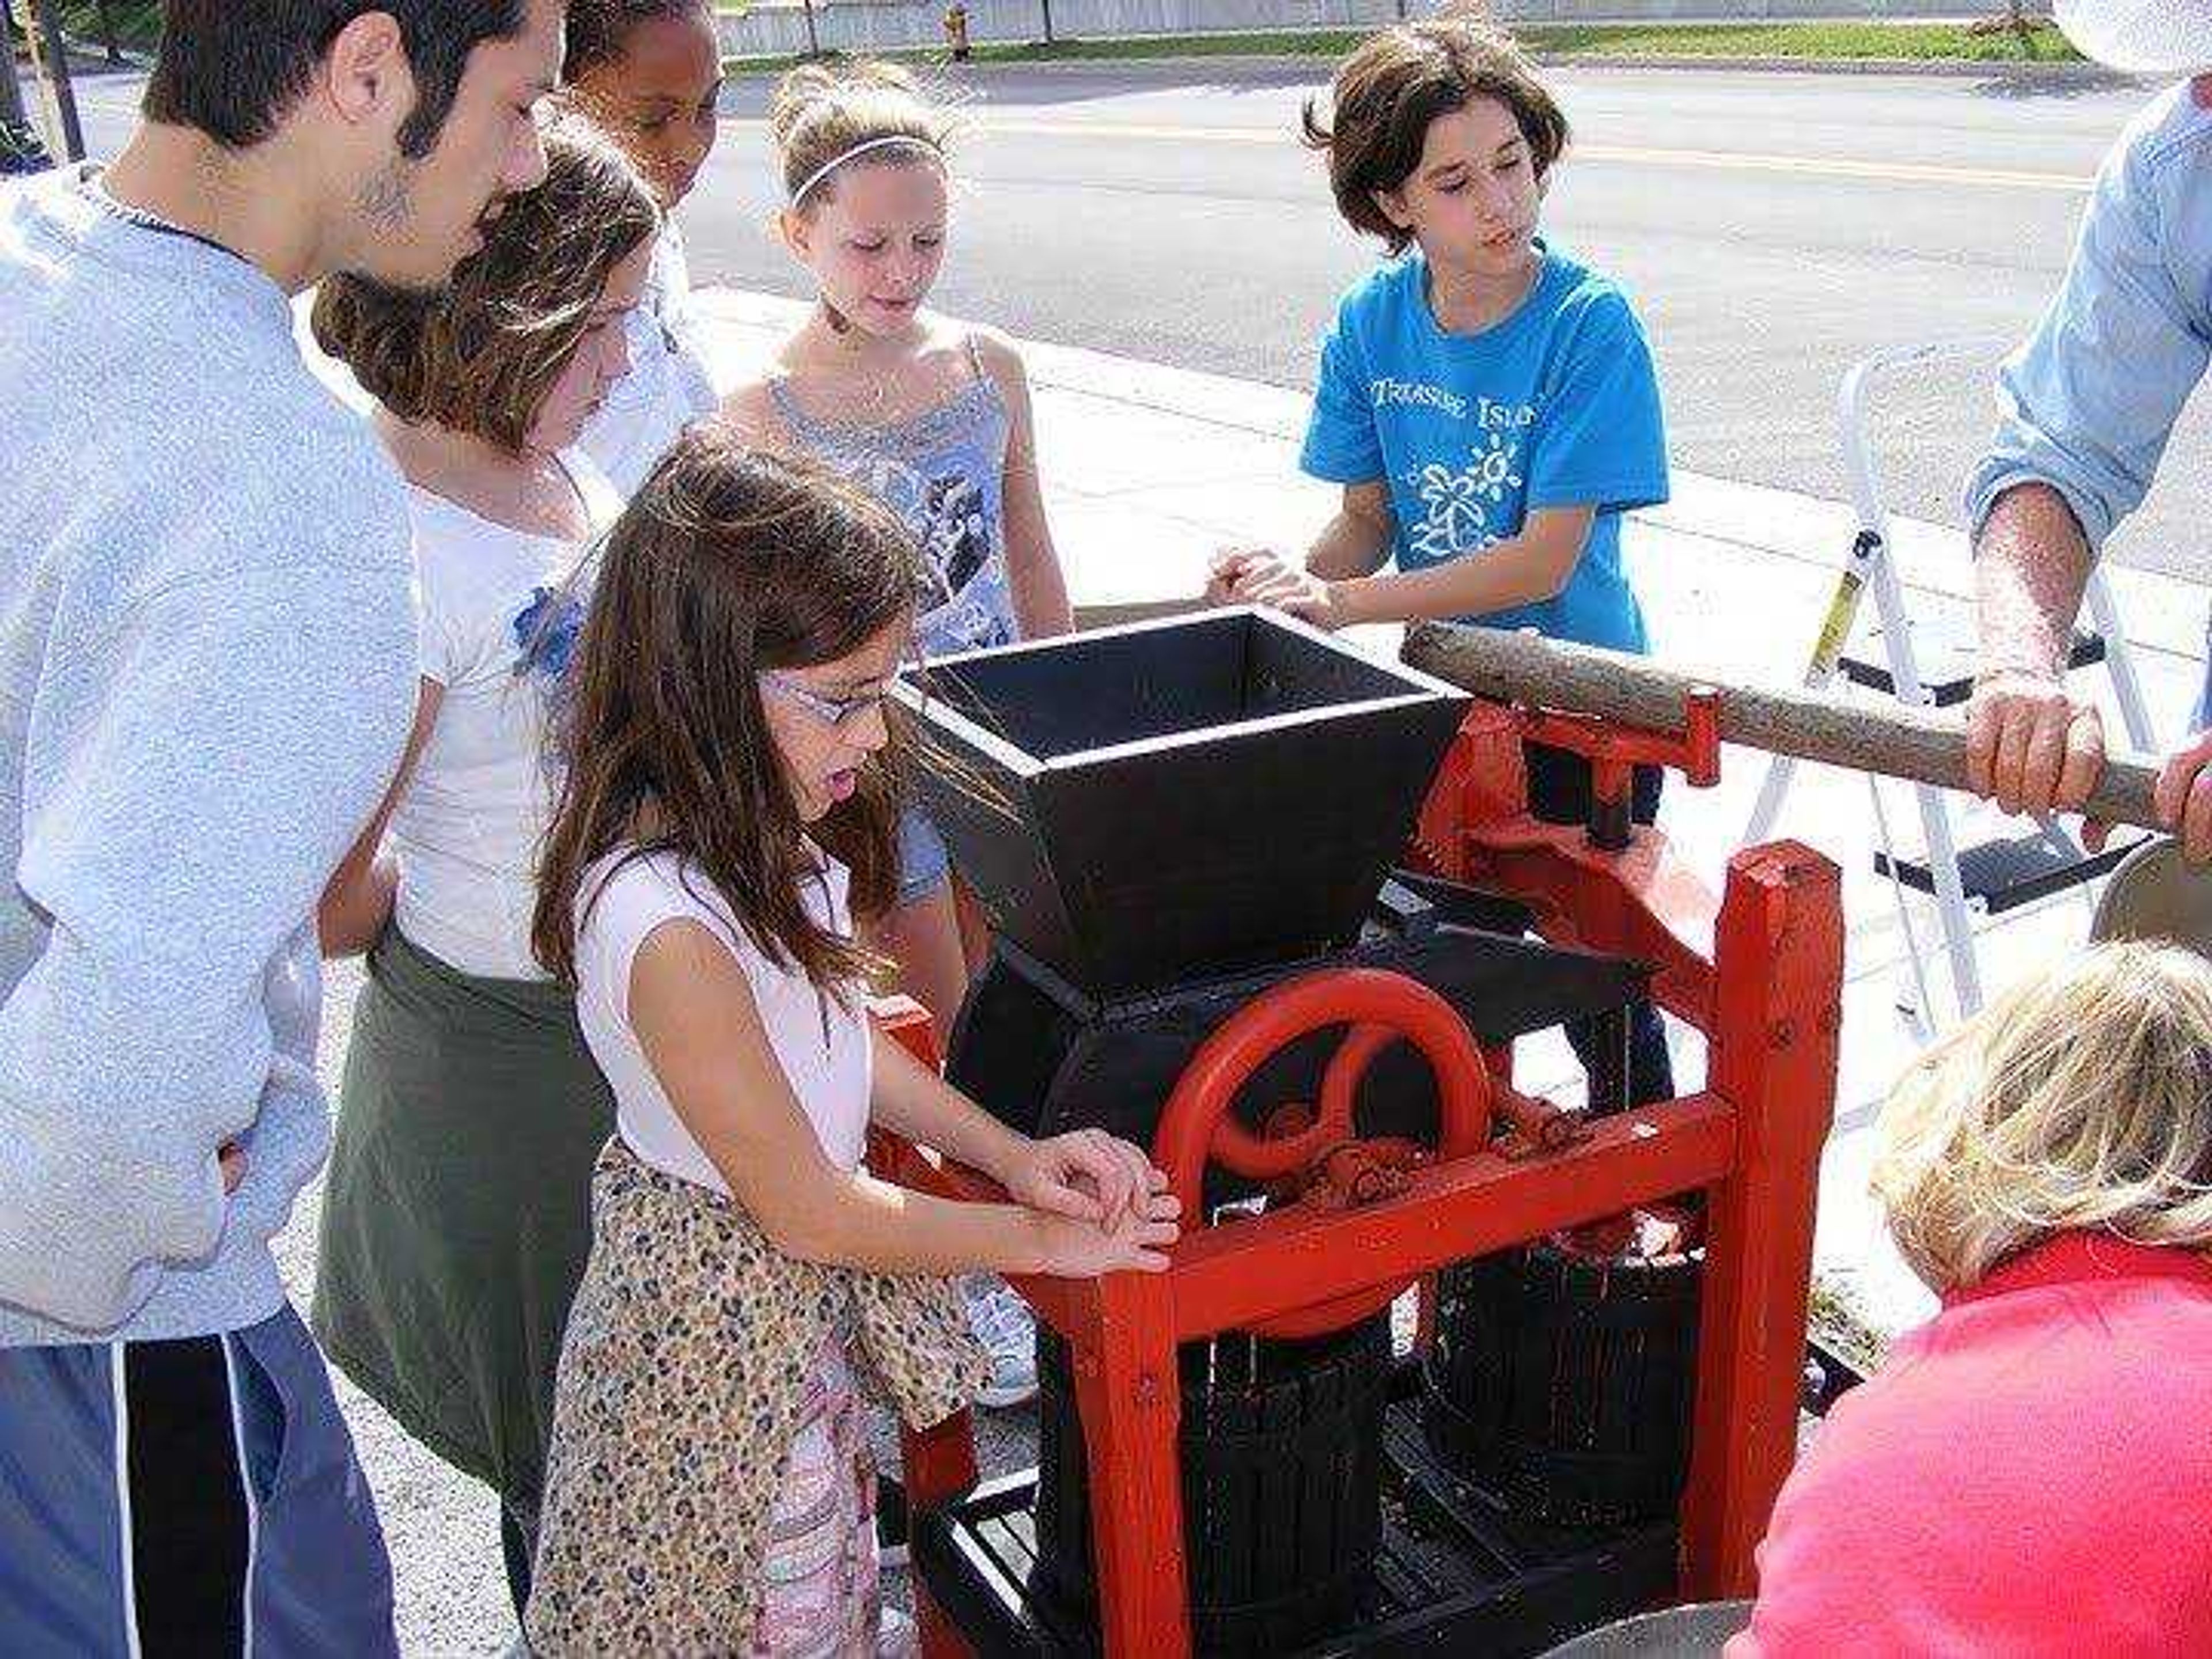
[[(1310, 66), (989, 71), (940, 303), (1015, 334), (1287, 387), (1365, 272), (1321, 164), (1294, 142)], [(1659, 356), (1677, 465), (1843, 495), (1836, 389), (1863, 354), (1929, 338), (1984, 349), (1876, 405), (1893, 504), (1955, 511), (1991, 422), (1989, 369), (2066, 265), (2088, 179), (2150, 93), (2081, 80), (1559, 71), (1575, 148), (1548, 232), (1635, 294)], [(686, 208), (697, 274), (803, 292), (770, 239), (763, 82), (732, 86)], [(2115, 551), (2205, 560), (2212, 480), (2199, 407)]]

